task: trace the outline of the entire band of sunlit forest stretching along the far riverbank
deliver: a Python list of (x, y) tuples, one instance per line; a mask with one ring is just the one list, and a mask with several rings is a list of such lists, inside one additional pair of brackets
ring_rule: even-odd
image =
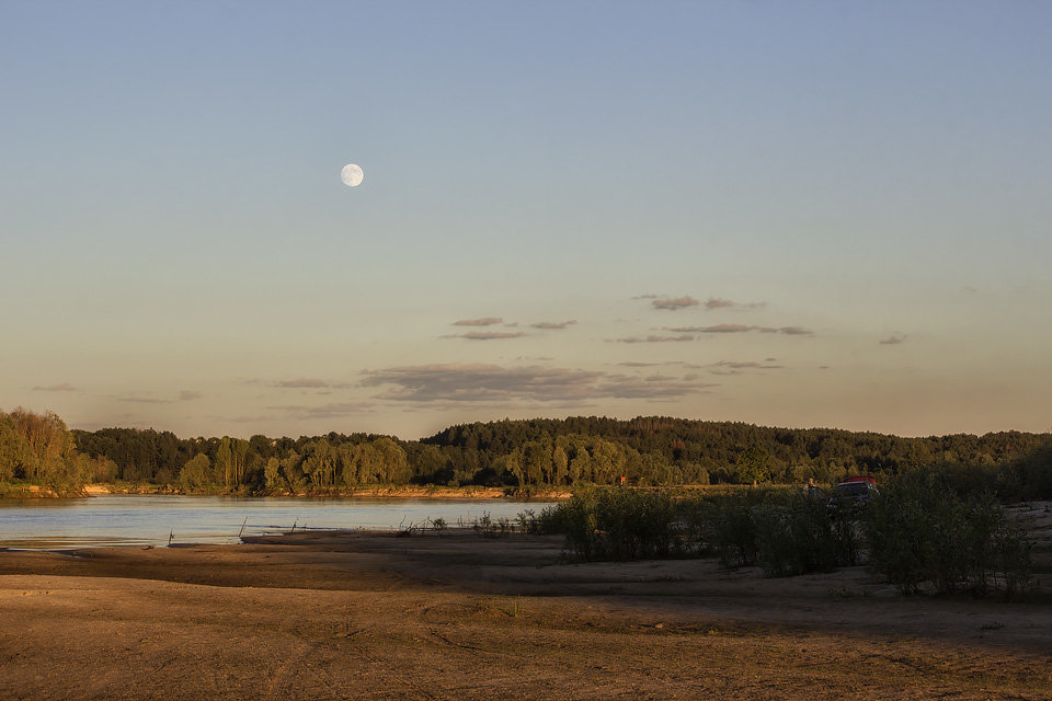
[(179, 438), (69, 429), (54, 413), (0, 412), (0, 483), (59, 493), (85, 483), (187, 493), (324, 494), (365, 485), (510, 490), (631, 484), (835, 483), (928, 470), (1005, 496), (1052, 495), (1052, 436), (903, 438), (828, 428), (596, 416), (450, 426), (421, 440), (364, 433)]

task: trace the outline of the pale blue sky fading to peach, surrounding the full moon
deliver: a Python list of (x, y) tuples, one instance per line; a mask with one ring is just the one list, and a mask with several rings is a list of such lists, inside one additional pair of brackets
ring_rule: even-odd
[(0, 3), (0, 410), (1048, 432), (1050, 26), (1038, 1)]

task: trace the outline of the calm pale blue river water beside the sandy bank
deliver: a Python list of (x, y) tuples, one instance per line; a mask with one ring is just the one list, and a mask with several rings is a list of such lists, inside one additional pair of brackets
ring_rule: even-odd
[(444, 518), (466, 525), (483, 514), (514, 519), (539, 502), (232, 498), (115, 494), (83, 499), (0, 499), (0, 548), (236, 543), (245, 535), (304, 528), (397, 529)]

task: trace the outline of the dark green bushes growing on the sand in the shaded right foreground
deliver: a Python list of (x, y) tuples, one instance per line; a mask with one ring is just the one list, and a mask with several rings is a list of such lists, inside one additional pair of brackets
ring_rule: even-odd
[(957, 495), (930, 475), (903, 478), (868, 506), (830, 507), (786, 491), (685, 496), (632, 489), (575, 494), (522, 529), (565, 535), (582, 560), (713, 553), (724, 566), (759, 565), (770, 577), (828, 572), (868, 558), (905, 593), (1025, 591), (1031, 543), (993, 497)]

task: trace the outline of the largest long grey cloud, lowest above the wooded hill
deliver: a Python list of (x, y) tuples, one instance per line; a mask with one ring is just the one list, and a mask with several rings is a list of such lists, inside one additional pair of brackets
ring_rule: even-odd
[(711, 383), (644, 379), (568, 368), (496, 365), (420, 365), (366, 371), (363, 384), (387, 387), (376, 399), (397, 402), (561, 402), (596, 399), (670, 400), (706, 391)]

